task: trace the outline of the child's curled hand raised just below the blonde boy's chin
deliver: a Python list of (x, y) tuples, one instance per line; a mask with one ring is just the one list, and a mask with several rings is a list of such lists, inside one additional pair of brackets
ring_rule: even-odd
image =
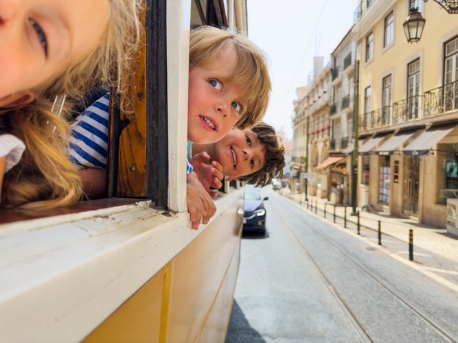
[(214, 189), (220, 189), (222, 186), (221, 180), (224, 177), (222, 174), (222, 165), (216, 161), (212, 161), (211, 165), (207, 165), (204, 161), (210, 159), (207, 152), (201, 152), (192, 156), (190, 163), (194, 171), (198, 176), (198, 180), (201, 181), (205, 190), (209, 193), (210, 196), (218, 196), (218, 191)]

